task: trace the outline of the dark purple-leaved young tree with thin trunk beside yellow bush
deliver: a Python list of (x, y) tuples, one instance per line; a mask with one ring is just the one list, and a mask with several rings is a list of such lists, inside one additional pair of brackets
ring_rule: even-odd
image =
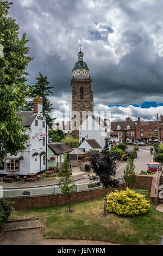
[(96, 186), (100, 186), (102, 184), (102, 186), (105, 187), (104, 215), (106, 215), (107, 188), (118, 187), (119, 184), (119, 181), (113, 178), (116, 174), (117, 154), (109, 151), (110, 144), (110, 139), (106, 139), (105, 147), (102, 150), (102, 155), (99, 153), (93, 153), (91, 155), (90, 162), (93, 172), (95, 172), (96, 175), (88, 175), (91, 181), (97, 181)]

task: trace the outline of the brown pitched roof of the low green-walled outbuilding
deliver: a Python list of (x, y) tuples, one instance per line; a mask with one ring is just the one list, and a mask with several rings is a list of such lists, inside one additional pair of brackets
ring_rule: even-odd
[(52, 142), (48, 144), (48, 147), (57, 155), (73, 151), (73, 149), (64, 142)]

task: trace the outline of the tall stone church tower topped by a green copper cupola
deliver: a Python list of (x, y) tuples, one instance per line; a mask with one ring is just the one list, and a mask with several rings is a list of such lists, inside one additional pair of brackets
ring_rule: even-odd
[[(78, 62), (74, 65), (72, 70), (73, 77), (71, 80), (72, 86), (72, 123), (76, 118), (74, 111), (80, 113), (80, 122), (77, 125), (74, 123), (73, 130), (79, 130), (80, 124), (82, 124), (82, 112), (92, 112), (93, 114), (93, 92), (91, 89), (91, 77), (89, 75), (89, 68), (83, 60), (83, 52), (81, 50), (78, 53)], [(84, 121), (84, 119), (83, 119)], [(79, 124), (80, 123), (80, 124)]]

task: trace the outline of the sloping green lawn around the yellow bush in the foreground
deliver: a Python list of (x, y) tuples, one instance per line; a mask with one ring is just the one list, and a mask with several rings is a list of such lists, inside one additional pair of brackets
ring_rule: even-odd
[[(149, 200), (149, 191), (136, 191)], [(153, 203), (147, 214), (135, 217), (104, 217), (103, 203), (103, 198), (74, 203), (72, 214), (67, 212), (67, 205), (15, 211), (10, 218), (43, 216), (46, 238), (102, 240), (121, 245), (161, 244), (163, 213), (156, 211)]]

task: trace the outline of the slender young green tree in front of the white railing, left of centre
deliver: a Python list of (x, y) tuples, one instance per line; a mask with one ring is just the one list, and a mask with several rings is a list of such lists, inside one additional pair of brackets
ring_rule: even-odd
[(61, 192), (65, 194), (65, 197), (68, 198), (68, 210), (72, 212), (70, 197), (74, 193), (76, 185), (74, 184), (73, 179), (71, 178), (71, 173), (69, 169), (69, 162), (67, 160), (66, 154), (64, 154), (65, 160), (61, 165), (61, 170), (59, 172), (60, 181), (58, 183)]

